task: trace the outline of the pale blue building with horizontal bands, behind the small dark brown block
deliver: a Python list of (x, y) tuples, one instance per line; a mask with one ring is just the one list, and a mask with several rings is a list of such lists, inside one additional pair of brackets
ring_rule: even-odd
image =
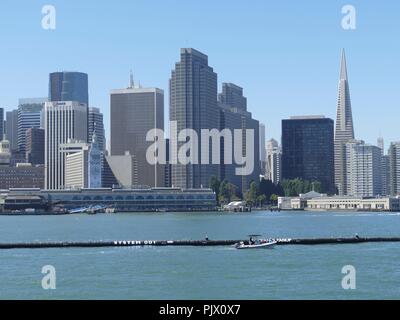
[(43, 103), (21, 104), (18, 107), (18, 151), (26, 152), (26, 131), (43, 125)]

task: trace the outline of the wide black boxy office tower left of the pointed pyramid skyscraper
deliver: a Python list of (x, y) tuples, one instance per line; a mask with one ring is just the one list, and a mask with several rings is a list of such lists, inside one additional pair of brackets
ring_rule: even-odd
[(323, 116), (282, 120), (282, 179), (321, 183), (334, 193), (333, 120)]

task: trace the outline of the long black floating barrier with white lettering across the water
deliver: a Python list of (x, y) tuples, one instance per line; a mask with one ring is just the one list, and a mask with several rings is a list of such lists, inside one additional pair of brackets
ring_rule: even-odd
[[(361, 244), (367, 242), (400, 242), (400, 237), (392, 238), (319, 238), (319, 239), (274, 239), (277, 245), (330, 245)], [(248, 240), (124, 240), (92, 242), (31, 242), (0, 243), (0, 249), (51, 249), (51, 248), (104, 248), (104, 247), (144, 247), (144, 246), (232, 246)]]

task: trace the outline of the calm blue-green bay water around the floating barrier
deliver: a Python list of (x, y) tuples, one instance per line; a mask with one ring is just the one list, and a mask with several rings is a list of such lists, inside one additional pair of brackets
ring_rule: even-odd
[[(400, 214), (166, 213), (0, 217), (0, 242), (400, 236)], [(0, 299), (399, 299), (400, 243), (0, 250)], [(43, 290), (44, 265), (57, 289)], [(342, 289), (353, 265), (357, 289)]]

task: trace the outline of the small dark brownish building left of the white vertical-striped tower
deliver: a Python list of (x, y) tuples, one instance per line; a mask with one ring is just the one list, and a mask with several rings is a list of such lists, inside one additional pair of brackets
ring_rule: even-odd
[(44, 129), (26, 130), (26, 162), (32, 165), (44, 165)]

